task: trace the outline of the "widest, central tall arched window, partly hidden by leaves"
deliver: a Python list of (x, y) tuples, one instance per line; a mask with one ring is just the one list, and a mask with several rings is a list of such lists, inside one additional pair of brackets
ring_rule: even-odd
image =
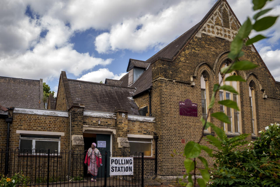
[[(226, 60), (223, 63), (223, 67), (226, 67), (230, 63), (228, 60)], [(231, 72), (222, 77), (222, 75), (219, 73), (219, 82), (222, 82), (222, 85), (230, 85), (232, 86), (237, 92), (239, 92), (239, 82), (236, 81), (225, 81), (225, 78), (236, 75), (236, 72)], [(231, 93), (226, 90), (220, 90), (219, 91), (219, 97), (220, 101), (222, 100), (232, 100), (235, 101), (240, 108), (240, 97), (239, 95), (235, 93)], [(240, 133), (240, 117), (239, 117), (239, 111), (233, 108), (225, 107), (223, 105), (220, 105), (220, 112), (224, 112), (228, 119), (230, 120), (230, 123), (225, 124), (224, 122), (221, 122), (221, 127), (225, 130), (226, 133)]]

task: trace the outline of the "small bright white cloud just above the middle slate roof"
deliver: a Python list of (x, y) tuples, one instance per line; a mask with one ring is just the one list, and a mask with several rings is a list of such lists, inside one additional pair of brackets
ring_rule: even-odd
[(119, 80), (122, 78), (126, 73), (120, 73), (118, 75), (114, 75), (113, 72), (108, 70), (107, 68), (101, 68), (97, 71), (89, 72), (85, 75), (83, 75), (81, 78), (78, 78), (78, 80), (81, 81), (90, 81), (90, 82), (105, 82), (105, 79), (116, 79)]

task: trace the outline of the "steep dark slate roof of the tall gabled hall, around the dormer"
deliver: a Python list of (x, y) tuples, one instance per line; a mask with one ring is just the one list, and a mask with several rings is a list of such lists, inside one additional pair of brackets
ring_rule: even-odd
[[(208, 19), (208, 17), (212, 14), (212, 12), (217, 8), (217, 6), (222, 2), (223, 0), (218, 0), (215, 5), (210, 9), (210, 11), (204, 16), (204, 18), (197, 23), (195, 26), (193, 26), (190, 30), (182, 34), (180, 37), (172, 41), (170, 44), (165, 46), (163, 49), (158, 51), (155, 55), (153, 55), (151, 58), (149, 58), (146, 61), (141, 60), (135, 60), (137, 62), (141, 61), (142, 63), (148, 64), (153, 63), (157, 59), (165, 59), (165, 60), (174, 60), (176, 58), (177, 54), (183, 49), (183, 47), (190, 41), (192, 36), (195, 35), (196, 31), (199, 30), (199, 28), (204, 24), (204, 22)], [(129, 63), (132, 62), (134, 59), (129, 59)], [(134, 61), (133, 61), (134, 62)], [(127, 67), (127, 70), (129, 70), (129, 65)], [(120, 80), (123, 81), (121, 86), (128, 86), (128, 74), (123, 76)], [(148, 67), (142, 75), (129, 87), (136, 88), (136, 91), (134, 93), (134, 96), (137, 94), (146, 91), (152, 86), (152, 71), (151, 68)]]

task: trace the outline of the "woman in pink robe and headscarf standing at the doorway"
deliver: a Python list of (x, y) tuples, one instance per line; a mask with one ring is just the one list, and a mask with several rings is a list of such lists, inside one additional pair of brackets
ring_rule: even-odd
[(96, 143), (92, 143), (85, 156), (85, 164), (88, 165), (88, 173), (91, 175), (91, 181), (96, 181), (98, 168), (101, 165), (101, 154), (96, 148)]

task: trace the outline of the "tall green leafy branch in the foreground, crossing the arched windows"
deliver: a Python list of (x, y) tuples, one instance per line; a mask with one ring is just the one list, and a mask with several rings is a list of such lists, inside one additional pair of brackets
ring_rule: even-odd
[[(260, 10), (261, 8), (263, 8), (265, 6), (267, 1), (269, 1), (269, 0), (253, 0), (253, 4), (254, 4), (253, 9), (255, 11)], [(232, 59), (232, 63), (230, 63), (230, 65), (228, 67), (223, 67), (220, 70), (222, 75), (226, 75), (233, 71), (251, 70), (251, 69), (257, 67), (256, 64), (246, 61), (246, 60), (239, 60), (239, 58), (244, 56), (244, 52), (242, 51), (244, 44), (248, 46), (248, 45), (253, 44), (254, 42), (257, 42), (257, 41), (260, 41), (261, 39), (266, 38), (265, 36), (260, 35), (260, 34), (253, 37), (252, 39), (248, 39), (248, 36), (252, 30), (255, 30), (257, 32), (263, 31), (263, 30), (268, 29), (275, 23), (278, 16), (276, 16), (276, 17), (266, 16), (266, 17), (260, 18), (262, 15), (269, 12), (270, 10), (271, 9), (265, 9), (265, 10), (258, 11), (258, 13), (256, 13), (253, 16), (254, 23), (251, 22), (250, 18), (247, 18), (247, 20), (244, 22), (244, 24), (240, 27), (238, 34), (236, 35), (236, 37), (233, 39), (233, 41), (231, 43), (230, 53), (228, 53), (228, 57), (230, 59)], [(225, 81), (246, 82), (239, 75), (229, 76), (225, 79)], [(216, 94), (218, 93), (218, 91), (220, 89), (229, 91), (231, 93), (239, 94), (232, 86), (222, 85), (222, 83), (223, 83), (223, 80), (221, 80), (219, 84), (214, 85), (213, 94), (211, 96), (211, 100), (210, 100), (209, 106), (207, 108), (206, 119), (208, 119), (208, 117), (209, 117), (210, 110), (213, 108), (213, 105), (215, 103)], [(221, 105), (224, 105), (228, 108), (233, 108), (235, 110), (239, 110), (237, 103), (234, 101), (223, 100), (223, 101), (218, 101), (218, 103)], [(211, 116), (220, 120), (221, 122), (230, 123), (230, 120), (228, 119), (227, 115), (225, 115), (224, 112), (215, 112), (215, 113), (212, 113)], [(206, 159), (199, 156), (201, 153), (201, 150), (204, 150), (206, 153), (209, 154), (209, 156), (218, 157), (218, 155), (220, 153), (219, 150), (222, 150), (223, 152), (231, 151), (236, 146), (244, 145), (244, 142), (240, 143), (239, 141), (237, 141), (239, 143), (235, 143), (235, 144), (234, 144), (234, 142), (228, 142), (227, 136), (225, 135), (225, 132), (223, 131), (223, 129), (216, 127), (211, 122), (205, 121), (203, 118), (201, 118), (201, 121), (202, 121), (203, 127), (202, 127), (202, 133), (199, 138), (199, 141), (197, 143), (194, 141), (190, 141), (185, 145), (185, 148), (184, 148), (184, 155), (186, 158), (184, 161), (184, 165), (185, 165), (185, 169), (186, 169), (186, 174), (184, 175), (184, 178), (186, 178), (188, 176), (188, 183), (181, 183), (181, 184), (183, 184), (184, 186), (187, 186), (187, 187), (194, 186), (196, 181), (199, 184), (199, 186), (205, 187), (206, 184), (209, 182), (209, 179), (210, 179), (209, 170), (210, 169), (208, 167), (208, 163), (207, 163)], [(200, 145), (200, 142), (203, 138), (204, 129), (207, 129), (209, 127), (211, 127), (213, 129), (213, 131), (218, 135), (218, 138), (215, 136), (211, 136), (211, 135), (207, 135), (206, 138), (217, 149), (211, 149), (211, 148), (208, 148), (207, 146)], [(244, 139), (244, 138), (246, 138), (246, 136), (247, 135), (244, 134), (244, 135), (241, 135), (240, 137), (238, 137), (239, 139), (234, 138), (233, 140), (234, 141), (236, 141), (236, 139), (242, 140), (242, 138)], [(230, 145), (233, 145), (233, 146), (227, 147), (226, 145), (229, 145), (229, 143), (231, 143)], [(213, 151), (215, 151), (216, 154), (212, 154)], [(176, 153), (176, 151), (174, 151), (174, 153)], [(205, 169), (199, 169), (199, 171), (202, 175), (202, 178), (199, 178), (199, 179), (196, 178), (196, 170), (197, 170), (196, 159), (199, 159), (203, 163), (204, 168), (205, 168)], [(228, 162), (229, 161), (230, 160), (228, 160)], [(192, 175), (190, 174), (190, 172), (192, 172), (192, 171), (194, 171), (193, 172), (194, 181), (192, 180)], [(220, 172), (224, 172), (226, 174), (226, 170), (223, 170)], [(227, 172), (227, 174), (228, 174), (228, 172)], [(234, 176), (232, 177), (232, 179), (234, 179)]]

